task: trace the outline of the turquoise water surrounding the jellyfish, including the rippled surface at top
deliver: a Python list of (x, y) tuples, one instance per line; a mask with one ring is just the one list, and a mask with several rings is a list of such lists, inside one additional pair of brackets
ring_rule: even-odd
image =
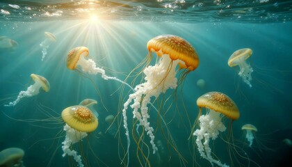
[[(106, 8), (98, 6), (100, 4), (97, 1), (93, 2), (96, 10), (99, 9), (97, 7)], [(220, 5), (203, 3), (201, 8), (198, 8), (197, 3), (172, 2), (172, 5), (176, 4), (179, 7), (172, 6), (174, 11), (169, 15), (163, 11), (170, 8), (163, 9), (161, 3), (156, 1), (128, 2), (127, 5), (132, 7), (128, 9), (132, 12), (137, 10), (137, 6), (143, 7), (141, 13), (135, 14), (136, 17), (134, 13), (126, 10), (125, 6), (118, 8), (120, 5), (111, 3), (115, 8), (108, 5), (106, 9), (117, 10), (117, 15), (104, 12), (102, 16), (97, 15), (97, 20), (88, 19), (88, 13), (73, 15), (70, 10), (74, 10), (74, 6), (69, 2), (71, 5), (67, 4), (67, 8), (60, 5), (61, 3), (56, 3), (57, 7), (63, 6), (57, 8), (48, 7), (44, 1), (40, 3), (15, 1), (13, 4), (18, 4), (22, 10), (9, 7), (8, 2), (1, 3), (0, 8), (10, 11), (10, 14), (3, 14), (5, 12), (1, 10), (0, 36), (15, 40), (18, 45), (0, 48), (0, 150), (10, 147), (22, 148), (25, 152), (23, 157), (25, 166), (77, 166), (74, 159), (62, 157), (61, 146), (65, 132), (60, 113), (68, 106), (77, 105), (83, 99), (91, 98), (98, 102), (95, 109), (99, 113), (99, 127), (83, 141), (74, 144), (76, 150), (83, 156), (83, 164), (127, 166), (127, 156), (124, 159), (125, 163), (122, 164), (125, 155), (122, 148), (127, 148), (127, 137), (122, 126), (121, 107), (131, 90), (126, 86), (123, 91), (119, 82), (104, 80), (100, 74), (83, 75), (82, 72), (67, 69), (67, 54), (74, 47), (88, 47), (89, 57), (97, 62), (98, 67), (106, 70), (108, 76), (124, 81), (127, 74), (147, 56), (146, 45), (150, 39), (161, 34), (172, 34), (184, 38), (193, 45), (200, 58), (200, 65), (186, 76), (184, 85), (179, 86), (181, 89), (177, 91), (177, 98), (173, 96), (175, 92), (173, 89), (167, 90), (164, 98), (161, 94), (159, 100), (163, 100), (164, 108), (159, 108), (160, 101), (154, 101), (152, 98), (153, 105), (159, 109), (158, 114), (149, 106), (149, 122), (155, 129), (154, 142), (158, 145), (158, 154), (152, 154), (149, 136), (145, 134), (143, 153), (146, 157), (149, 156), (145, 158), (149, 160), (149, 164), (211, 166), (206, 159), (200, 157), (195, 143), (191, 142), (193, 136), (190, 140), (188, 137), (193, 133), (192, 126), (199, 111), (196, 105), (197, 98), (204, 93), (218, 91), (231, 97), (241, 113), (240, 118), (232, 122), (232, 127), (229, 128), (233, 132), (234, 141), (229, 141), (231, 144), (224, 142), (222, 139), (229, 133), (223, 132), (222, 138), (217, 138), (210, 144), (218, 159), (232, 166), (227, 148), (228, 145), (236, 145), (235, 150), (238, 154), (231, 153), (233, 166), (291, 166), (291, 145), (283, 142), (285, 138), (292, 139), (292, 23), (289, 5), (291, 2), (258, 1), (254, 8), (252, 3), (245, 3), (245, 6), (239, 6), (236, 10), (246, 10), (249, 6), (252, 11), (247, 10), (248, 14), (237, 12), (236, 15), (225, 17), (222, 15), (218, 17), (214, 13), (223, 7), (226, 8), (227, 2), (220, 2)], [(276, 6), (275, 3), (278, 6), (277, 10), (270, 7)], [(232, 4), (234, 7), (236, 3)], [(186, 13), (193, 5), (195, 5), (193, 9), (197, 10)], [(284, 5), (286, 7), (283, 7)], [(31, 6), (32, 10), (26, 11), (27, 6)], [(209, 10), (209, 15), (202, 14), (204, 6)], [(86, 8), (85, 5), (78, 7)], [(257, 13), (265, 8), (266, 12)], [(60, 10), (63, 14), (42, 15), (46, 10), (51, 14), (52, 11), (58, 13)], [(150, 12), (146, 11), (152, 11), (151, 15), (156, 19), (151, 20)], [(229, 13), (232, 11), (228, 10)], [(194, 16), (194, 13), (200, 15)], [(103, 19), (106, 14), (115, 18)], [(263, 15), (270, 17), (262, 17)], [(200, 18), (202, 22), (198, 21)], [(45, 31), (53, 33), (56, 42), (49, 43), (47, 54), (42, 61), (40, 43), (46, 40)], [(229, 56), (241, 48), (250, 48), (253, 51), (249, 58), (249, 63), (254, 69), (252, 88), (238, 76), (237, 67), (227, 65)], [(155, 64), (156, 54), (153, 56), (151, 65)], [(32, 73), (39, 74), (49, 81), (51, 86), (49, 92), (41, 90), (38, 95), (24, 97), (15, 106), (4, 106), (13, 102), (21, 90), (26, 90), (33, 84), (30, 77)], [(136, 80), (133, 87), (141, 78)], [(204, 88), (197, 86), (198, 79), (206, 81)], [(127, 79), (127, 83), (131, 84), (132, 80), (133, 76)], [(117, 120), (112, 128), (106, 131), (109, 125), (104, 119), (110, 114), (117, 116)], [(130, 109), (127, 110), (127, 116), (130, 135), (136, 134), (136, 126), (133, 128), (131, 126), (136, 119), (132, 119)], [(48, 120), (53, 117), (54, 119)], [(166, 122), (173, 142), (168, 143), (171, 138), (164, 135), (166, 127), (161, 118)], [(230, 122), (225, 119), (227, 127)], [(248, 141), (241, 130), (246, 123), (257, 127), (256, 134), (261, 144), (254, 141), (252, 148), (248, 147)], [(115, 132), (119, 132), (117, 136)], [(179, 160), (182, 158), (179, 158), (179, 154), (170, 146), (173, 143), (185, 161)], [(136, 143), (131, 136), (129, 166), (141, 166), (136, 150)], [(145, 159), (141, 160), (142, 166), (149, 165)]]

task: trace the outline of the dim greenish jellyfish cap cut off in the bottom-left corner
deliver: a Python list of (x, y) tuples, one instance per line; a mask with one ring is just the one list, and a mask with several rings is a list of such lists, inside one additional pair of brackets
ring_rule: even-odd
[(24, 150), (21, 148), (6, 148), (0, 152), (0, 166), (24, 167), (22, 157), (24, 157)]

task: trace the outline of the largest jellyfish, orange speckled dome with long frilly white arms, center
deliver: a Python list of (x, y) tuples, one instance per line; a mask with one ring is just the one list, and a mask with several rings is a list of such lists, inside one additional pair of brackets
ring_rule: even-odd
[[(193, 71), (199, 65), (199, 58), (195, 49), (189, 42), (183, 38), (175, 35), (159, 35), (152, 38), (147, 43), (149, 51), (147, 55), (147, 64), (152, 59), (152, 51), (159, 56), (159, 61), (154, 66), (149, 65), (143, 70), (145, 74), (145, 82), (135, 87), (135, 92), (129, 95), (129, 99), (124, 103), (122, 109), (122, 116), (124, 118), (124, 128), (126, 129), (126, 136), (128, 141), (128, 150), (130, 144), (129, 129), (127, 127), (127, 109), (131, 104), (133, 109), (133, 118), (138, 119), (139, 125), (145, 127), (145, 132), (150, 138), (153, 154), (158, 148), (154, 143), (154, 129), (150, 126), (148, 119), (147, 104), (151, 104), (151, 97), (159, 97), (161, 93), (165, 93), (168, 89), (177, 88), (177, 83), (181, 83), (186, 74)], [(182, 70), (181, 80), (178, 82), (175, 75), (176, 68), (179, 65), (179, 70)]]

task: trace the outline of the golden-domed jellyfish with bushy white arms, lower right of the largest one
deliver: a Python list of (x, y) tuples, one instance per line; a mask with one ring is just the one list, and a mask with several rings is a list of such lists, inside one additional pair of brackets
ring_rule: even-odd
[[(201, 157), (208, 160), (212, 166), (213, 164), (227, 166), (211, 156), (213, 153), (209, 143), (210, 139), (214, 141), (218, 138), (220, 132), (225, 132), (226, 127), (221, 121), (224, 116), (232, 121), (239, 118), (238, 108), (232, 99), (219, 92), (209, 92), (200, 96), (197, 99), (197, 106), (200, 109), (200, 129), (193, 132), (193, 136), (196, 137), (197, 150), (199, 150)], [(206, 108), (206, 115), (202, 115), (203, 107)]]

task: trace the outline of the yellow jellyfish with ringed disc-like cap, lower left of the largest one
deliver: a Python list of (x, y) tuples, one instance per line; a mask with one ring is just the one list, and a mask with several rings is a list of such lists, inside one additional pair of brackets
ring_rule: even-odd
[(76, 150), (72, 150), (72, 145), (82, 141), (88, 135), (87, 133), (97, 129), (97, 117), (86, 106), (80, 105), (67, 107), (62, 111), (61, 116), (65, 122), (63, 129), (66, 132), (65, 141), (62, 142), (64, 152), (62, 156), (72, 156), (78, 166), (83, 167), (82, 157)]

